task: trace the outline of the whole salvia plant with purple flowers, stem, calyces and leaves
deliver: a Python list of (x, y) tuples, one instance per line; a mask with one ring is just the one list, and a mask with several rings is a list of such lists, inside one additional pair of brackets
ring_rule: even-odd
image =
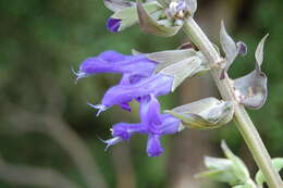
[[(245, 108), (260, 109), (267, 99), (267, 75), (261, 71), (266, 35), (255, 52), (255, 70), (243, 77), (232, 79), (227, 72), (238, 55), (247, 53), (243, 41), (234, 41), (226, 33), (224, 22), (220, 28), (219, 48), (204, 34), (194, 20), (197, 10), (196, 0), (104, 0), (113, 14), (107, 21), (111, 33), (120, 33), (139, 24), (145, 33), (161, 37), (171, 37), (183, 29), (190, 42), (179, 49), (153, 53), (133, 50), (132, 54), (104, 51), (97, 57), (86, 59), (75, 72), (76, 78), (100, 73), (121, 74), (122, 78), (104, 93), (100, 104), (90, 104), (101, 112), (119, 105), (131, 111), (130, 102), (139, 103), (138, 123), (118, 123), (111, 128), (112, 138), (102, 140), (107, 149), (135, 134), (145, 134), (147, 154), (159, 156), (163, 152), (160, 139), (164, 135), (179, 133), (187, 128), (211, 129), (227, 124), (232, 120), (245, 139), (259, 172), (255, 180), (244, 162), (222, 141), (225, 159), (205, 158), (208, 171), (196, 175), (212, 180), (227, 183), (233, 188), (283, 187), (279, 171), (283, 159), (271, 160), (261, 138)], [(209, 73), (222, 99), (213, 97), (176, 106), (161, 112), (159, 96), (173, 92), (186, 78)]]

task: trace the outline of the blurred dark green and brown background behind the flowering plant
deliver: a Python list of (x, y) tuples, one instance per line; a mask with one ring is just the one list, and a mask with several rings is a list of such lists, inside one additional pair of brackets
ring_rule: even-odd
[[(232, 77), (254, 67), (254, 51), (267, 33), (262, 68), (269, 76), (269, 98), (250, 111), (272, 156), (283, 156), (283, 24), (282, 0), (199, 0), (196, 20), (219, 43), (220, 21), (249, 53), (238, 58)], [(1, 188), (207, 188), (225, 187), (194, 179), (204, 170), (205, 155), (223, 156), (225, 139), (248, 165), (256, 165), (233, 123), (209, 131), (186, 129), (165, 137), (165, 152), (146, 154), (146, 137), (133, 137), (104, 152), (98, 139), (110, 137), (111, 125), (138, 121), (134, 113), (113, 108), (99, 117), (87, 102), (99, 103), (119, 76), (97, 75), (74, 84), (71, 67), (112, 49), (131, 53), (174, 49), (187, 41), (181, 32), (172, 38), (143, 34), (134, 26), (110, 34), (104, 25), (111, 12), (102, 0), (0, 0), (0, 187)], [(209, 77), (185, 82), (162, 97), (170, 109), (208, 96), (218, 96)]]

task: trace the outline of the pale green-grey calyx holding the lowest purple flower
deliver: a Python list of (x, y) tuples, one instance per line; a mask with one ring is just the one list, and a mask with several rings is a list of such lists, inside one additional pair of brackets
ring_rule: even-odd
[(233, 118), (234, 105), (231, 101), (206, 98), (177, 106), (167, 113), (180, 118), (187, 127), (211, 129), (218, 128)]

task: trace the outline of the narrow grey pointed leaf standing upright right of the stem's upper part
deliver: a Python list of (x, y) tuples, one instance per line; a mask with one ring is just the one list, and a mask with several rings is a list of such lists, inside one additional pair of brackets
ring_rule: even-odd
[(227, 72), (229, 67), (237, 57), (237, 46), (235, 41), (229, 36), (226, 33), (224, 22), (221, 22), (221, 29), (220, 29), (220, 42), (221, 47), (225, 53), (226, 64), (224, 67), (224, 72)]

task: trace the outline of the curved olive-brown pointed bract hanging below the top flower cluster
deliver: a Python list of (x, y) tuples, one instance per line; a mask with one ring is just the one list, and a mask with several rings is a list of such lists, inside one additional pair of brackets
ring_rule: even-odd
[(182, 26), (164, 26), (155, 21), (145, 7), (137, 1), (137, 13), (139, 18), (140, 29), (145, 33), (158, 35), (162, 37), (171, 37), (175, 35)]

